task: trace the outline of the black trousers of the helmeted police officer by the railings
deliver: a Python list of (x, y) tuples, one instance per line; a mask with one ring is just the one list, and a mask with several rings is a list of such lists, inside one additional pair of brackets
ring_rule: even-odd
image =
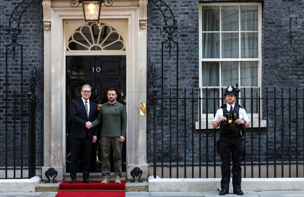
[(242, 155), (243, 137), (219, 137), (220, 158), (221, 158), (221, 189), (229, 189), (230, 183), (230, 154), (232, 160), (232, 185), (233, 190), (241, 189), (242, 179)]

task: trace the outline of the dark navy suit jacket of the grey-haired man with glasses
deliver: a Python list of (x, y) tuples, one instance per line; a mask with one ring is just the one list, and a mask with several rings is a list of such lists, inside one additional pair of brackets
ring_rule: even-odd
[(85, 128), (85, 123), (87, 121), (93, 122), (98, 116), (97, 105), (95, 102), (89, 100), (90, 102), (90, 112), (89, 117), (87, 117), (87, 112), (85, 110), (85, 105), (82, 99), (77, 99), (71, 103), (70, 120), (73, 122), (70, 137), (85, 137), (88, 132), (88, 136), (93, 138), (93, 136), (98, 137), (98, 128), (92, 127), (91, 129)]

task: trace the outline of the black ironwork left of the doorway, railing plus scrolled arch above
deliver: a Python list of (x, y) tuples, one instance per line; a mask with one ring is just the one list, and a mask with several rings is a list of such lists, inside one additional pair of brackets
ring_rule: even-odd
[(23, 0), (15, 6), (4, 35), (10, 43), (5, 45), (5, 99), (0, 102), (5, 114), (0, 117), (0, 179), (36, 176), (36, 68), (26, 92), (24, 87), (30, 73), (24, 66), (24, 46), (19, 43), (24, 39), (20, 28), (22, 15), (34, 2), (37, 0)]

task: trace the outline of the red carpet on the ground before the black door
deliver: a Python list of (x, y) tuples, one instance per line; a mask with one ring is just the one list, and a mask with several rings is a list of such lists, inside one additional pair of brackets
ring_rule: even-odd
[(121, 181), (121, 184), (115, 184), (114, 181), (110, 181), (108, 184), (101, 184), (101, 181), (92, 181), (91, 184), (82, 183), (82, 181), (77, 181), (77, 184), (71, 184), (70, 182), (64, 181), (59, 184), (59, 192), (56, 197), (126, 196), (126, 181)]

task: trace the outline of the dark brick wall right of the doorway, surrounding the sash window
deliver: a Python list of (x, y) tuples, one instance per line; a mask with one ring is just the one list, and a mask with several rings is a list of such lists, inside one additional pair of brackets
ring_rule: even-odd
[[(264, 1), (168, 1), (163, 0), (172, 10), (178, 31), (181, 36), (178, 39), (179, 44), (179, 74), (178, 74), (178, 92), (179, 97), (183, 96), (186, 88), (187, 95), (191, 92), (191, 88), (199, 87), (199, 3), (215, 3), (215, 2), (261, 2), (262, 3), (262, 77), (261, 77), (261, 97), (265, 97), (266, 88), (268, 88), (269, 97), (274, 96), (274, 88), (276, 88), (276, 95), (284, 95), (288, 97), (288, 88), (291, 88), (292, 96), (295, 96), (295, 90), (298, 88), (298, 95), (303, 95), (304, 86), (304, 15), (303, 8), (304, 2), (301, 0), (264, 0)], [(167, 50), (164, 50), (164, 78), (163, 89), (161, 88), (161, 42), (165, 38), (161, 38), (161, 29), (164, 25), (163, 16), (157, 7), (149, 1), (148, 3), (148, 21), (147, 21), (147, 92), (148, 92), (148, 105), (147, 105), (147, 161), (153, 161), (153, 108), (152, 108), (152, 64), (156, 67), (156, 84), (157, 84), (157, 97), (168, 97), (170, 87), (172, 87), (172, 96), (176, 96), (176, 51), (172, 52), (172, 58), (167, 55)], [(174, 54), (175, 53), (175, 54)], [(283, 93), (281, 93), (281, 88)], [(162, 95), (163, 91), (163, 95)], [(198, 92), (198, 91), (195, 91)], [(195, 93), (196, 94), (196, 93)], [(294, 106), (294, 105), (292, 105)], [(270, 106), (271, 107), (271, 106)], [(273, 106), (272, 106), (273, 107)], [(265, 108), (265, 106), (264, 106)], [(276, 110), (280, 110), (278, 107)], [(168, 105), (164, 105), (164, 111), (167, 113)], [(159, 115), (161, 108), (157, 108)], [(188, 108), (187, 111), (190, 112)], [(283, 109), (284, 114), (288, 114), (288, 109)], [(181, 112), (179, 112), (181, 113)], [(262, 112), (265, 117), (265, 111)], [(173, 109), (172, 114), (176, 114), (176, 109)], [(190, 113), (191, 114), (191, 113)], [(273, 113), (272, 113), (273, 115)], [(299, 106), (299, 117), (303, 115), (302, 104)], [(198, 119), (198, 113), (194, 114), (195, 119)], [(282, 117), (277, 117), (278, 120)], [(295, 117), (292, 117), (292, 122)], [(168, 119), (167, 119), (168, 120)], [(167, 121), (166, 120), (166, 121)], [(182, 118), (180, 119), (182, 120)], [(273, 121), (273, 117), (270, 119)], [(160, 123), (160, 116), (157, 116), (157, 122)], [(272, 122), (270, 122), (271, 124)], [(299, 122), (303, 126), (302, 122)], [(295, 144), (295, 126), (291, 128), (291, 152), (294, 157), (296, 150)], [(168, 132), (169, 127), (164, 126), (165, 132)], [(280, 129), (277, 128), (277, 136), (280, 136)], [(286, 126), (285, 126), (286, 130)], [(182, 131), (183, 132), (183, 131)], [(188, 131), (187, 131), (188, 132)], [(258, 139), (261, 136), (261, 155), (266, 155), (266, 133), (262, 129), (259, 131), (254, 129), (253, 133), (247, 136), (247, 147), (251, 147), (251, 143), (255, 144), (253, 150), (257, 150), (257, 141), (251, 141), (251, 138)], [(268, 131), (270, 143), (273, 141), (273, 131)], [(272, 133), (271, 133), (272, 132)], [(195, 134), (196, 137), (198, 133)], [(288, 139), (288, 133), (285, 133), (285, 140)], [(206, 131), (203, 133), (204, 139), (206, 138)], [(157, 137), (160, 137), (160, 127), (157, 127)], [(175, 137), (175, 136), (173, 136)], [(209, 137), (214, 137), (212, 134)], [(164, 147), (169, 147), (168, 135), (165, 136)], [(298, 140), (302, 140), (303, 133), (299, 133)], [(160, 139), (160, 138), (157, 138)], [(175, 139), (175, 138), (174, 138)], [(184, 143), (182, 139), (181, 143)], [(286, 141), (288, 143), (288, 141)], [(157, 143), (160, 143), (158, 140)], [(278, 141), (277, 150), (281, 148), (281, 142)], [(202, 142), (202, 147), (206, 144)], [(211, 146), (213, 146), (211, 144)], [(191, 147), (191, 146), (189, 146)], [(288, 152), (288, 145), (285, 145), (285, 151)], [(303, 153), (303, 145), (298, 147), (299, 155)], [(271, 149), (270, 149), (271, 151)], [(248, 151), (247, 151), (248, 152)], [(249, 149), (249, 154), (251, 150)], [(160, 155), (160, 150), (157, 150), (157, 156)], [(253, 158), (257, 158), (257, 152), (253, 152)], [(172, 155), (174, 157), (174, 155)], [(303, 159), (300, 156), (300, 160)], [(191, 157), (189, 157), (191, 159)], [(264, 159), (264, 160), (263, 160)], [(265, 157), (262, 157), (265, 161)], [(218, 160), (219, 161), (219, 160)], [(206, 161), (203, 161), (206, 162)]]

